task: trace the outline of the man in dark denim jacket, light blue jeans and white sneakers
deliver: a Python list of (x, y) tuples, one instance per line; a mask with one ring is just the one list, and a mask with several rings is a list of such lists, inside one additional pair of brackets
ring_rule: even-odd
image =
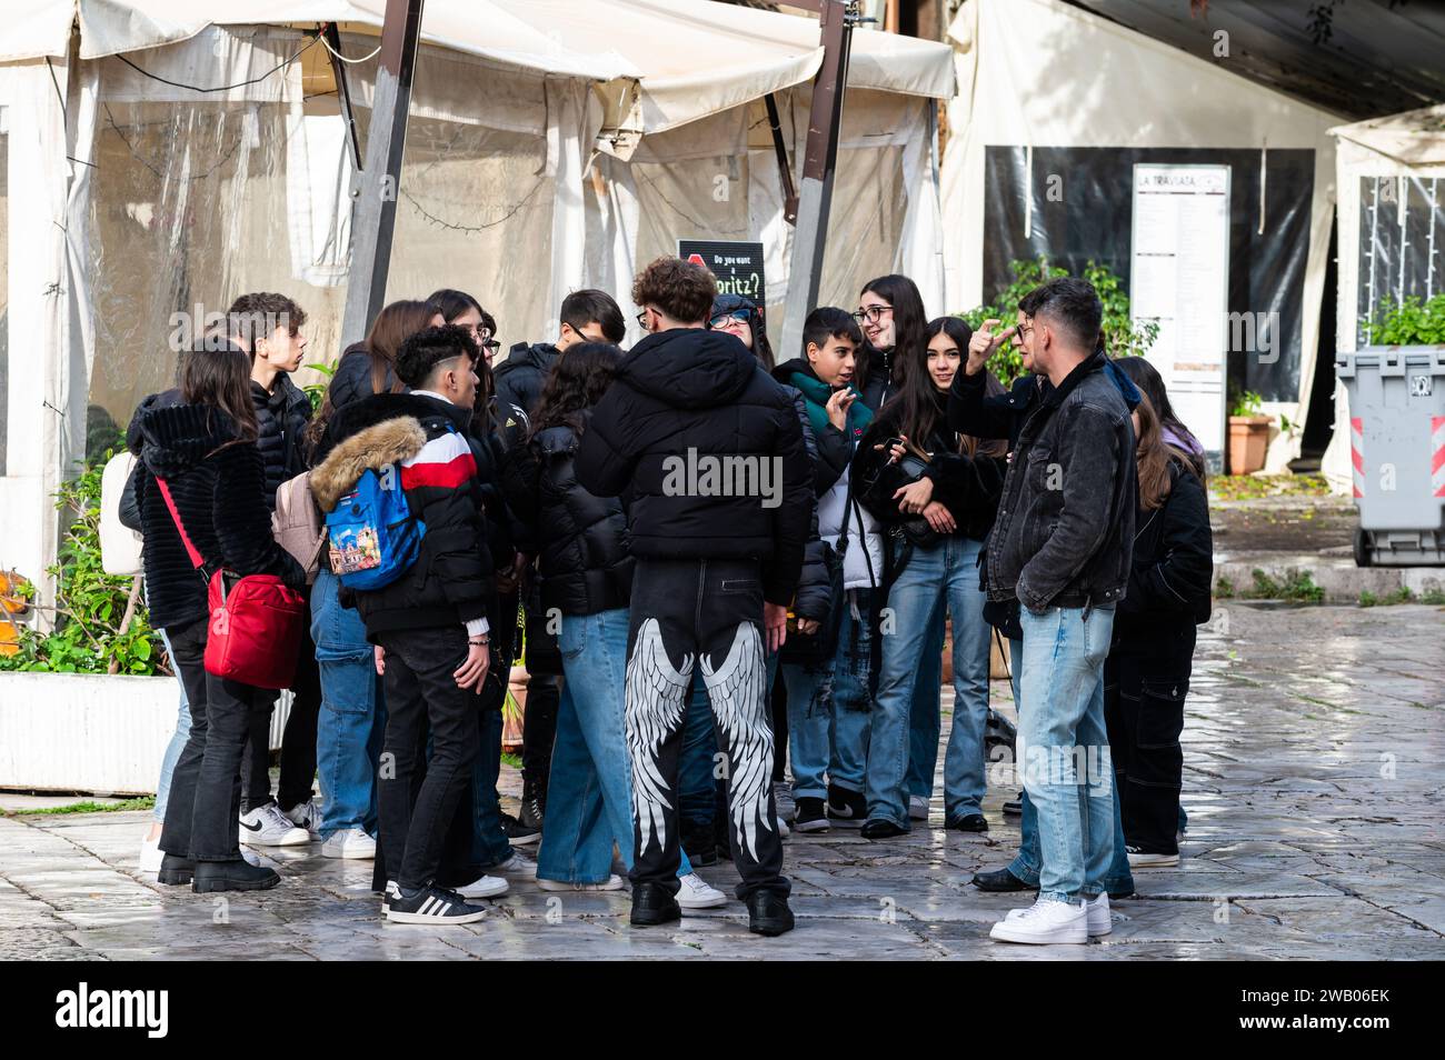
[(1025, 362), (1051, 387), (1019, 433), (985, 588), (1023, 605), (1019, 764), (1042, 866), (1038, 903), (991, 931), (1006, 942), (1082, 943), (1108, 930), (1114, 794), (1097, 693), (1129, 583), (1136, 482), (1133, 425), (1104, 371), (1101, 319), (1094, 287), (1072, 277), (1019, 302)]

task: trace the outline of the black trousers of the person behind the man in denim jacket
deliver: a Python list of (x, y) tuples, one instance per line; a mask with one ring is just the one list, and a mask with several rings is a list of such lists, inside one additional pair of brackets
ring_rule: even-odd
[(1183, 783), (1183, 700), (1195, 628), (1188, 618), (1116, 640), (1104, 663), (1104, 722), (1114, 758), (1124, 840), (1147, 853), (1178, 853)]

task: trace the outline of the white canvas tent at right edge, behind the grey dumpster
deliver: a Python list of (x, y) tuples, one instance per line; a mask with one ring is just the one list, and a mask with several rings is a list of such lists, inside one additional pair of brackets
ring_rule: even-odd
[[(1340, 302), (1337, 349), (1368, 342), (1381, 305), (1445, 290), (1445, 104), (1338, 126)], [(1322, 471), (1335, 492), (1353, 487), (1350, 407), (1337, 390), (1335, 433)]]

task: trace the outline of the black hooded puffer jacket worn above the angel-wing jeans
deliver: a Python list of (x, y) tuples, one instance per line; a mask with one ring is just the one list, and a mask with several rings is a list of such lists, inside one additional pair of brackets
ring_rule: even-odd
[[(753, 469), (743, 490), (740, 466)], [(577, 478), (624, 498), (633, 556), (757, 559), (764, 599), (793, 602), (812, 468), (792, 399), (736, 336), (675, 328), (633, 347), (592, 413)]]

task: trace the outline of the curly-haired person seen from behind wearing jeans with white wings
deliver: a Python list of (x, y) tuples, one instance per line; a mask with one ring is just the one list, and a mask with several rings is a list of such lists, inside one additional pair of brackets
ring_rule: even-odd
[(764, 653), (785, 640), (812, 468), (788, 393), (736, 336), (704, 329), (715, 293), (711, 273), (675, 257), (637, 276), (633, 300), (652, 334), (597, 404), (577, 479), (627, 500), (637, 565), (627, 648), (631, 923), (679, 916), (678, 752), (696, 664), (728, 742), (738, 897), (751, 930), (780, 934), (793, 917), (775, 825)]

